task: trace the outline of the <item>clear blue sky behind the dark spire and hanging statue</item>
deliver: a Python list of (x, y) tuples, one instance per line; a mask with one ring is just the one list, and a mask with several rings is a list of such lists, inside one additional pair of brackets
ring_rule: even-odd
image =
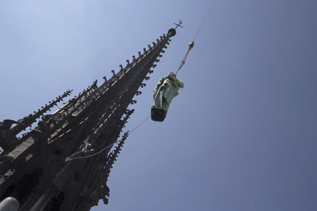
[[(119, 71), (183, 20), (124, 129), (150, 115), (212, 1), (1, 1), (0, 119)], [(217, 0), (178, 73), (163, 122), (148, 119), (92, 210), (317, 210), (317, 2)]]

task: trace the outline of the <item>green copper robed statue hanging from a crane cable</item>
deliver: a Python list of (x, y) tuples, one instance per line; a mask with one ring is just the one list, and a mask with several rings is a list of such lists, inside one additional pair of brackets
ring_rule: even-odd
[(164, 121), (172, 99), (178, 96), (179, 88), (184, 88), (184, 83), (178, 80), (173, 72), (159, 80), (153, 91), (154, 103), (151, 109), (151, 119), (153, 121)]

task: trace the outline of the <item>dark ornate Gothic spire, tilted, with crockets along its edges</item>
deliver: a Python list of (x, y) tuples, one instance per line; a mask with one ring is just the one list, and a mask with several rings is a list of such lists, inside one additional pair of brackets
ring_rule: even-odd
[[(127, 107), (136, 102), (134, 95), (141, 94), (139, 87), (146, 85), (143, 81), (149, 79), (147, 74), (153, 72), (151, 68), (159, 62), (175, 29), (133, 56), (131, 62), (126, 60), (126, 67), (120, 65), (110, 79), (103, 77), (100, 87), (96, 80), (53, 114), (46, 112), (71, 90), (34, 114), (1, 122), (0, 201), (11, 196), (19, 201), (19, 210), (36, 211), (90, 210), (100, 199), (107, 204), (107, 177), (128, 135), (125, 132), (120, 140), (122, 128), (133, 113)], [(16, 137), (36, 121), (37, 126)], [(112, 147), (105, 149), (117, 141), (112, 152)], [(93, 155), (96, 152), (100, 153)], [(77, 159), (65, 161), (70, 156)]]

